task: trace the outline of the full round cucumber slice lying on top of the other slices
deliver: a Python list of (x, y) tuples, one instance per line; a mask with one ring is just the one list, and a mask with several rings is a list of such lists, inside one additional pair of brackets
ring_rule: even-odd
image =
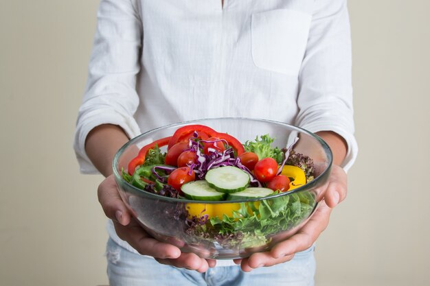
[(238, 167), (226, 166), (207, 171), (205, 180), (210, 187), (223, 193), (243, 191), (249, 185), (249, 174)]

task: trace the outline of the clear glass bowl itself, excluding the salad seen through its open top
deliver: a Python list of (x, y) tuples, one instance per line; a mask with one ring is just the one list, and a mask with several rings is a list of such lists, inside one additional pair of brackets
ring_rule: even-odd
[[(302, 187), (242, 201), (195, 201), (167, 198), (129, 184), (121, 176), (139, 149), (171, 136), (177, 128), (202, 124), (240, 142), (269, 134), (273, 147), (288, 147), (313, 159), (315, 179)], [(319, 136), (286, 123), (247, 118), (201, 119), (150, 130), (128, 141), (115, 155), (113, 171), (121, 198), (139, 224), (155, 239), (205, 259), (238, 259), (269, 250), (288, 239), (310, 218), (324, 195), (332, 153)]]

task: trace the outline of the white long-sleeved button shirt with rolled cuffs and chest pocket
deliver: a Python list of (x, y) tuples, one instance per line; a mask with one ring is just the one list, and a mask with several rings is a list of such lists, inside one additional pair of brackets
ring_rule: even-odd
[(252, 117), (340, 134), (348, 170), (352, 115), (346, 0), (102, 0), (74, 148), (81, 171), (96, 173), (84, 142), (100, 124), (133, 138)]

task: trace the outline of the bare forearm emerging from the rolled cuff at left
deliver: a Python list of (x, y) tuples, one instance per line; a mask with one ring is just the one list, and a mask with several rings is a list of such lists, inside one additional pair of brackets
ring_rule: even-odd
[(105, 177), (112, 174), (115, 153), (128, 141), (120, 126), (103, 124), (91, 130), (85, 141), (85, 151), (93, 165)]

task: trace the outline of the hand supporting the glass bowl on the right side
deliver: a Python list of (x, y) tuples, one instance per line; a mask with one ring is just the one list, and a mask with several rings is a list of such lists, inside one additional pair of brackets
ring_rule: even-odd
[(319, 202), (319, 207), (313, 216), (295, 235), (276, 244), (268, 252), (254, 253), (246, 259), (236, 259), (234, 262), (240, 264), (243, 271), (250, 272), (258, 267), (290, 261), (296, 252), (310, 248), (328, 226), (332, 208), (346, 198), (347, 176), (345, 171), (341, 167), (333, 165), (326, 186), (326, 190), (323, 191), (324, 200)]

